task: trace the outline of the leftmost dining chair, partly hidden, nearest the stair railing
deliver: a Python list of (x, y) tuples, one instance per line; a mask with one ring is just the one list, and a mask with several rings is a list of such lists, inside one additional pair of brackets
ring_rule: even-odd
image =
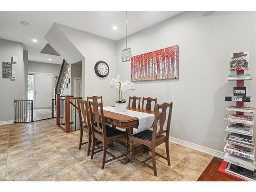
[[(91, 142), (92, 142), (92, 126), (91, 126), (89, 106), (87, 101), (84, 101), (82, 99), (78, 100), (78, 114), (79, 114), (79, 121), (80, 121), (79, 150), (81, 149), (81, 146), (83, 144), (88, 143), (87, 156), (89, 156), (90, 150), (91, 150)], [(88, 134), (88, 140), (89, 140), (84, 143), (82, 143), (83, 132), (86, 132)]]

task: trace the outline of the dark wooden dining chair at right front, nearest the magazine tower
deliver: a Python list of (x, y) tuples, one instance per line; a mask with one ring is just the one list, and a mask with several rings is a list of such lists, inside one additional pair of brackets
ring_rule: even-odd
[[(168, 110), (168, 118), (166, 129), (164, 129), (164, 123), (166, 120), (167, 109)], [(160, 113), (161, 110), (161, 113)], [(162, 103), (161, 105), (157, 104), (157, 108), (155, 111), (155, 120), (153, 123), (153, 131), (146, 130), (135, 135), (131, 135), (130, 137), (130, 162), (133, 160), (144, 164), (147, 167), (150, 167), (154, 170), (154, 175), (157, 176), (157, 167), (156, 167), (156, 156), (160, 156), (167, 160), (168, 165), (170, 166), (170, 156), (169, 156), (169, 131), (170, 131), (170, 119), (172, 117), (173, 110), (173, 102), (170, 103)], [(157, 129), (159, 121), (159, 130)], [(165, 134), (165, 135), (163, 135)], [(151, 148), (152, 157), (146, 159), (145, 161), (140, 161), (133, 157), (133, 142), (140, 143), (146, 145)], [(162, 143), (165, 143), (166, 149), (166, 157), (161, 154), (156, 153), (156, 147)], [(153, 166), (146, 164), (149, 160), (152, 159)]]

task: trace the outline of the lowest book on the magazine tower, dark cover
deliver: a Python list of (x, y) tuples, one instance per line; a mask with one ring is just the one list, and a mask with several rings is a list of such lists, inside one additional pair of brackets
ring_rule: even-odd
[(228, 163), (226, 172), (239, 178), (245, 179), (247, 181), (256, 181), (255, 170), (248, 170), (246, 168)]

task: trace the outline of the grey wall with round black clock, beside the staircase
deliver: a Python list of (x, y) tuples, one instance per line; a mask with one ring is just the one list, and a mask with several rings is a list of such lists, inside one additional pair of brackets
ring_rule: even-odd
[[(85, 58), (82, 60), (82, 97), (102, 95), (104, 105), (113, 105), (116, 98), (110, 81), (116, 77), (116, 41), (67, 26), (58, 27)], [(99, 60), (109, 65), (107, 77), (100, 78), (94, 72), (95, 63)]]

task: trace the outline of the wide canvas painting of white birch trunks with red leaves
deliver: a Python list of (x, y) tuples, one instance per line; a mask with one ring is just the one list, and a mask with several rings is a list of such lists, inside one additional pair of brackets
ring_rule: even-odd
[(131, 58), (131, 81), (178, 78), (179, 47), (177, 45)]

